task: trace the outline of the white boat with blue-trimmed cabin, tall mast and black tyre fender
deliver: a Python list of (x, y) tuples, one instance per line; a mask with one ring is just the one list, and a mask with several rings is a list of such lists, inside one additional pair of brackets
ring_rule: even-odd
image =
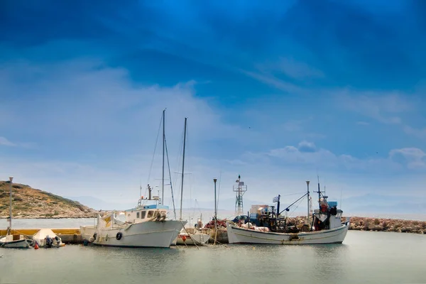
[[(124, 211), (126, 221), (111, 212), (98, 215), (97, 224), (80, 226), (82, 237), (97, 246), (160, 247), (168, 248), (187, 222), (168, 219), (168, 206), (164, 200), (165, 110), (163, 110), (163, 195), (152, 196), (148, 184), (148, 197), (141, 196), (138, 205)], [(150, 204), (151, 203), (151, 204)]]

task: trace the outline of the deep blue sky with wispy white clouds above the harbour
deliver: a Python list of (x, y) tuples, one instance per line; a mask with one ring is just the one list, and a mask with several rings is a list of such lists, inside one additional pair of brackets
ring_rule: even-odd
[[(186, 200), (212, 207), (220, 176), (231, 207), (241, 174), (248, 200), (271, 203), (318, 173), (335, 200), (425, 213), (425, 11), (423, 1), (2, 1), (0, 175), (134, 203), (167, 108), (175, 197), (188, 117)], [(156, 156), (152, 185), (160, 167)]]

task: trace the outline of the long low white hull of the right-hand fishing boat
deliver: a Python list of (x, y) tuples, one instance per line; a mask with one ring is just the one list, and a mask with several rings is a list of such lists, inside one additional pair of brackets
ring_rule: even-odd
[(342, 244), (349, 229), (349, 222), (334, 229), (301, 232), (298, 234), (257, 231), (226, 224), (229, 244)]

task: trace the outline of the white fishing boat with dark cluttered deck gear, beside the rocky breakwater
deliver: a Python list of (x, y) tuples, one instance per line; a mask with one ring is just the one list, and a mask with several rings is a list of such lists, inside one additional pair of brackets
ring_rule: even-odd
[[(227, 222), (229, 244), (342, 244), (349, 229), (349, 218), (346, 222), (342, 222), (342, 210), (337, 209), (337, 202), (333, 205), (327, 202), (327, 196), (322, 195), (319, 183), (317, 193), (320, 208), (312, 212), (312, 223), (309, 209), (309, 181), (307, 181), (307, 193), (299, 198), (301, 200), (307, 196), (308, 200), (305, 226), (300, 229), (295, 226), (286, 226), (286, 218), (280, 217), (282, 212), (280, 212), (280, 195), (278, 195), (274, 198), (274, 202), (278, 202), (276, 212), (274, 207), (271, 207), (271, 209), (263, 210), (262, 214), (258, 214), (257, 220), (260, 220), (261, 224), (253, 225), (254, 222), (248, 222), (236, 225)], [(289, 207), (283, 212), (288, 212)]]

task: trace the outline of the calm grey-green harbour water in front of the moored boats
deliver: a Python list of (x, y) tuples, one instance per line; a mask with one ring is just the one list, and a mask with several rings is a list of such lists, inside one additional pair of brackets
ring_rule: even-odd
[(426, 283), (426, 236), (349, 231), (344, 244), (0, 249), (0, 283)]

